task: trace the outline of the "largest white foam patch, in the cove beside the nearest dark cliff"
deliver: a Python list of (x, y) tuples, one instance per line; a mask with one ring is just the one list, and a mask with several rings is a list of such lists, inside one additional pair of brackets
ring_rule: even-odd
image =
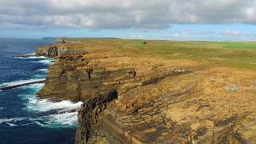
[[(42, 86), (43, 85), (37, 84), (27, 86), (27, 88), (40, 90)], [(46, 126), (52, 128), (77, 126), (77, 110), (82, 105), (82, 102), (51, 102), (49, 99), (39, 99), (35, 94), (20, 94), (19, 96), (28, 100), (26, 103), (26, 110), (34, 111), (36, 113), (51, 113), (40, 118), (29, 119), (31, 122), (34, 122), (38, 126)], [(54, 112), (54, 114), (52, 114), (52, 112)]]

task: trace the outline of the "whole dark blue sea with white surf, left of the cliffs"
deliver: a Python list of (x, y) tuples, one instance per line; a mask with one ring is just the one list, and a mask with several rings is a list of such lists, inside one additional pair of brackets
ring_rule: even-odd
[[(47, 58), (14, 58), (31, 54), (37, 46), (54, 43), (42, 39), (0, 38), (0, 86), (46, 78)], [(0, 143), (74, 143), (77, 113), (59, 113), (81, 103), (38, 99), (43, 84), (0, 91)]]

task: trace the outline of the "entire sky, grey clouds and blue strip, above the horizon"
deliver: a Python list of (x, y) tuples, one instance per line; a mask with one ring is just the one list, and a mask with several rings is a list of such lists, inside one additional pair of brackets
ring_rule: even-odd
[(256, 41), (256, 0), (0, 0), (0, 37)]

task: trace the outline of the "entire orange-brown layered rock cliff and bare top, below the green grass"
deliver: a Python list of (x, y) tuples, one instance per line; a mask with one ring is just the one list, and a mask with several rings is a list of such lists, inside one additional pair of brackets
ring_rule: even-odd
[(117, 43), (37, 50), (56, 60), (39, 97), (83, 102), (76, 143), (256, 142), (254, 71), (163, 60)]

